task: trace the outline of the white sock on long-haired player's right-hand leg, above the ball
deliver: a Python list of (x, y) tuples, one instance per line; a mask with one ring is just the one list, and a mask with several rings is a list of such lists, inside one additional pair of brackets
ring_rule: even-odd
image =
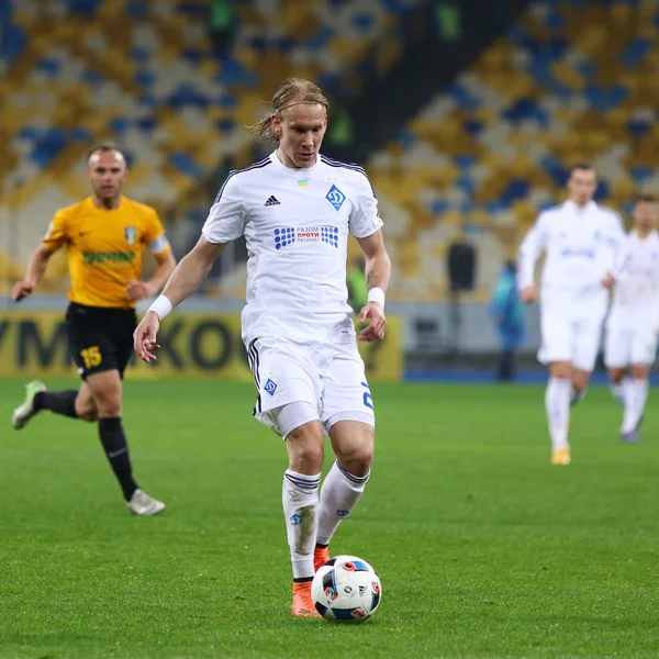
[(328, 545), (340, 521), (347, 517), (364, 494), (364, 488), (370, 476), (348, 473), (338, 460), (323, 481), (319, 515), (319, 545)]

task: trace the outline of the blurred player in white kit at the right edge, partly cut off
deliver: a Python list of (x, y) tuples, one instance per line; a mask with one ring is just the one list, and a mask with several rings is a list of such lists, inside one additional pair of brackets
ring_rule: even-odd
[(638, 440), (648, 398), (649, 370), (657, 356), (658, 216), (657, 198), (640, 197), (634, 206), (634, 228), (627, 238), (627, 277), (614, 288), (606, 321), (604, 362), (611, 377), (611, 391), (625, 410), (621, 438), (630, 443)]

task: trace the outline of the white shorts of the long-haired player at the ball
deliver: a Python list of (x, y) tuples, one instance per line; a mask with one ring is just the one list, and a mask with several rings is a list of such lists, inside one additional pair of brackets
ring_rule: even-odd
[(286, 438), (294, 429), (277, 423), (278, 411), (289, 403), (309, 403), (315, 412), (313, 418), (300, 418), (295, 427), (319, 420), (328, 435), (338, 421), (376, 425), (364, 361), (355, 344), (257, 338), (247, 346), (247, 357), (258, 390), (254, 415), (278, 435)]

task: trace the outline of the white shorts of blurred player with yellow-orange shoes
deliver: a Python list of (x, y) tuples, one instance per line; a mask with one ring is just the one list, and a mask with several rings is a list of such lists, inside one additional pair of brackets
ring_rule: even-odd
[(588, 372), (594, 369), (602, 335), (601, 320), (570, 319), (554, 311), (545, 312), (540, 314), (540, 364), (570, 361), (574, 368)]

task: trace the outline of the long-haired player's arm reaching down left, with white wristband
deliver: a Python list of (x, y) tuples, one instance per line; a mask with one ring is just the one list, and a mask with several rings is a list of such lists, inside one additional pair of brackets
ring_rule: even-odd
[(225, 243), (214, 244), (203, 236), (174, 269), (161, 295), (152, 304), (135, 330), (134, 347), (138, 357), (148, 364), (156, 359), (155, 351), (160, 320), (177, 304), (193, 293), (211, 271), (215, 259), (222, 254)]

